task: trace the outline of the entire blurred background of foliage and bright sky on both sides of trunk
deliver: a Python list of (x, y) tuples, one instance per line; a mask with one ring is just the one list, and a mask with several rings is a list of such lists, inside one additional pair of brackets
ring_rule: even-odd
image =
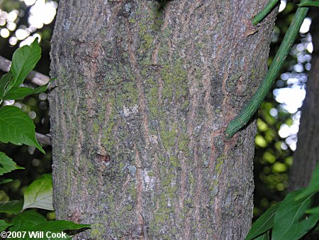
[[(43, 52), (35, 70), (49, 75), (50, 39), (57, 8), (58, 1), (53, 0), (0, 0), (0, 55), (11, 60), (16, 48), (30, 44), (38, 37)], [(296, 4), (293, 1), (281, 0), (272, 36), (269, 65), (295, 11)], [(310, 24), (311, 18), (306, 18), (281, 75), (277, 77), (272, 91), (259, 109), (254, 158), (255, 217), (262, 214), (270, 204), (282, 200), (288, 187), (289, 168), (293, 162), (293, 152), (296, 151), (300, 108), (306, 96), (307, 75), (313, 53)], [(3, 74), (0, 71), (0, 75)], [(23, 101), (6, 104), (14, 104), (28, 113), (38, 133), (49, 133), (47, 94), (35, 94)], [(26, 168), (6, 174), (13, 182), (0, 185), (0, 202), (23, 200), (26, 187), (43, 173), (52, 171), (51, 148), (44, 146), (44, 149), (46, 155), (30, 146), (0, 145), (0, 151)], [(41, 211), (47, 219), (55, 219), (54, 212)], [(10, 218), (10, 215), (2, 217)]]

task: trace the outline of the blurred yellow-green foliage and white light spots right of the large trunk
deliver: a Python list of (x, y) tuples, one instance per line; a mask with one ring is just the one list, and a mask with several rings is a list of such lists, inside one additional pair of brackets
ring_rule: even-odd
[[(284, 11), (278, 15), (269, 53), (269, 65), (284, 38), (296, 8), (293, 1), (288, 1)], [(309, 21), (310, 18), (306, 20)], [(258, 112), (254, 156), (255, 217), (260, 216), (274, 202), (283, 200), (287, 193), (289, 168), (293, 163), (293, 151), (296, 150), (301, 105), (298, 106), (296, 102), (295, 109), (291, 109), (291, 106), (287, 106), (279, 95), (286, 91), (291, 97), (295, 97), (293, 94), (296, 94), (294, 92), (296, 89), (306, 88), (312, 46), (308, 31), (303, 29), (303, 33), (296, 40), (289, 57), (286, 58), (281, 75), (277, 77), (272, 91)]]

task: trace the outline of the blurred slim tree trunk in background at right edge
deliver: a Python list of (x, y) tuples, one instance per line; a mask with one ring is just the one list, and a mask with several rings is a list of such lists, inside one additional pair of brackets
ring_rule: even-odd
[(301, 125), (298, 131), (297, 150), (293, 156), (289, 189), (306, 187), (311, 173), (319, 163), (319, 13), (313, 11), (311, 36), (313, 37), (313, 53), (311, 70), (307, 82), (306, 99), (303, 102)]

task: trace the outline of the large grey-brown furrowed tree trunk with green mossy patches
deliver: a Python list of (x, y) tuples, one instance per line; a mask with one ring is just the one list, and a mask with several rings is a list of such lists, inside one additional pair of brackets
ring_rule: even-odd
[(276, 13), (250, 23), (267, 1), (60, 1), (58, 219), (84, 239), (245, 238), (256, 124), (223, 131), (267, 70)]

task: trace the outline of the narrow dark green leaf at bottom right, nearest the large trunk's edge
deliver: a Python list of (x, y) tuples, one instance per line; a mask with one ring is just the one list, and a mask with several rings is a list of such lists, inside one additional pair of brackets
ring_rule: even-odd
[(272, 207), (269, 207), (269, 209), (267, 209), (267, 211), (264, 212), (264, 214), (262, 214), (262, 216), (260, 216), (257, 221), (254, 222), (254, 224), (252, 224), (252, 227), (248, 232), (245, 240), (254, 239), (268, 229), (272, 228), (274, 224), (274, 216), (279, 205), (280, 202), (272, 205)]

